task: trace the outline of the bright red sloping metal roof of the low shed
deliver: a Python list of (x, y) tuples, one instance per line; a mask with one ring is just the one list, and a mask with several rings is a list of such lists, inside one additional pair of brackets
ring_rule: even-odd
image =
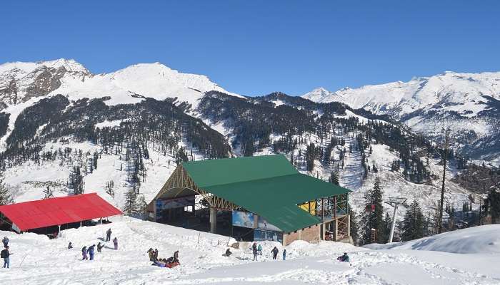
[(21, 231), (122, 214), (96, 193), (56, 197), (0, 206)]

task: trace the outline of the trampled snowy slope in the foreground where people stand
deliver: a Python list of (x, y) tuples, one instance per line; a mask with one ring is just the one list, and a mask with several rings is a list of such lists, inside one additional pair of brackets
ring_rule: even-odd
[[(81, 261), (81, 247), (104, 241), (106, 229), (119, 250), (104, 242), (94, 261)], [(499, 236), (500, 227), (494, 229)], [(11, 269), (0, 269), (1, 284), (500, 284), (500, 254), (453, 254), (424, 250), (371, 250), (350, 244), (294, 242), (286, 261), (272, 261), (274, 242), (263, 242), (263, 256), (251, 261), (246, 246), (222, 257), (227, 237), (117, 217), (112, 224), (62, 232), (49, 240), (36, 234), (0, 232), (11, 239)], [(474, 232), (467, 235), (474, 236)], [(461, 238), (464, 238), (461, 236)], [(69, 242), (74, 249), (66, 249)], [(159, 257), (179, 250), (181, 266), (151, 266), (146, 251)], [(486, 247), (500, 247), (489, 242)], [(336, 261), (349, 252), (351, 264)], [(495, 251), (492, 251), (495, 252)], [(24, 259), (24, 261), (23, 261)], [(22, 262), (22, 264), (21, 264)]]

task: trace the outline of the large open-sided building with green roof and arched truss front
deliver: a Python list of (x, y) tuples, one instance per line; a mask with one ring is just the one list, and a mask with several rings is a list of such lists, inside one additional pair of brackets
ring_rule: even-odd
[(349, 239), (349, 192), (284, 155), (201, 160), (178, 165), (147, 210), (154, 222), (200, 229), (205, 219), (206, 230), (245, 240), (339, 241)]

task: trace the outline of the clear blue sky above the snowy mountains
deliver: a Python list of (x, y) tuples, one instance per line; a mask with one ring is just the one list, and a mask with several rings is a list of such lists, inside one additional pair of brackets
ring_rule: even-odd
[(500, 71), (500, 1), (9, 1), (0, 63), (159, 61), (226, 90), (300, 95)]

